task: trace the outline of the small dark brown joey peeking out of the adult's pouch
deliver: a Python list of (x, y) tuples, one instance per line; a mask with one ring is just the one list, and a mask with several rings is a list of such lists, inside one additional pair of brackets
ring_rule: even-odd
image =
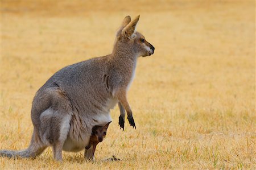
[[(109, 122), (111, 123), (111, 122)], [(93, 160), (94, 158), (94, 152), (96, 150), (96, 146), (98, 143), (102, 142), (102, 140), (106, 136), (106, 131), (108, 130), (109, 123), (107, 123), (105, 126), (93, 126), (92, 128), (92, 135), (90, 136), (90, 141), (88, 146), (85, 147), (85, 150), (89, 150), (89, 148), (92, 146), (92, 155), (89, 157), (90, 160)]]

